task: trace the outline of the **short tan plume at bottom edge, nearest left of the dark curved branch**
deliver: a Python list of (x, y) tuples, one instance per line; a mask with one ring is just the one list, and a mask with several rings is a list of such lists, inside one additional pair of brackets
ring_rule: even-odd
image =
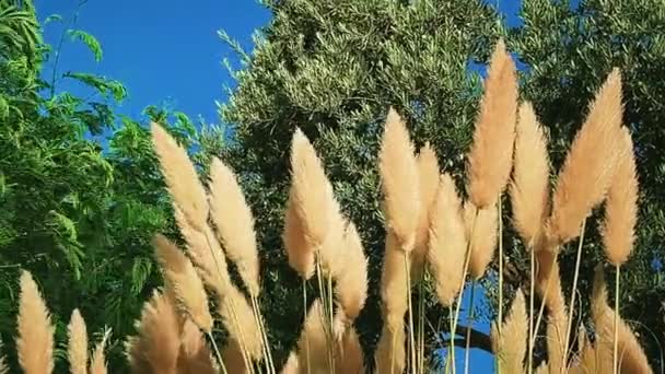
[(376, 373), (401, 374), (406, 369), (406, 335), (404, 325), (389, 327), (384, 325), (376, 346)]

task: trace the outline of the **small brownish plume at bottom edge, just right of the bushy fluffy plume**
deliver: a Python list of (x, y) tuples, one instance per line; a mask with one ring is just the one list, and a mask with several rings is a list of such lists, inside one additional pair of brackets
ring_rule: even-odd
[[(182, 341), (174, 374), (218, 374), (214, 359), (206, 344), (206, 339), (191, 319), (183, 323)], [(162, 372), (160, 372), (162, 373)], [(166, 373), (166, 372), (164, 372)]]

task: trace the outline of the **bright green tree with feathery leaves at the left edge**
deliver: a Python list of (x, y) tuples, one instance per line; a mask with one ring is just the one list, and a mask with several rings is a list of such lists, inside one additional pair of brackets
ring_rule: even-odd
[[(151, 239), (156, 232), (175, 234), (150, 133), (147, 124), (115, 115), (126, 96), (121, 83), (62, 73), (57, 63), (50, 65), (52, 71), (43, 69), (59, 50), (42, 42), (30, 1), (0, 4), (0, 335), (5, 352), (15, 363), (16, 280), (26, 269), (54, 314), (58, 342), (66, 341), (75, 307), (89, 331), (112, 328), (108, 355), (116, 372), (126, 364), (124, 339), (133, 332), (133, 319), (162, 282)], [(94, 36), (73, 28), (75, 17), (49, 19), (67, 22), (63, 40), (80, 40), (101, 57)], [(61, 80), (79, 81), (88, 87), (86, 98), (59, 90)], [(212, 147), (206, 136), (215, 132), (199, 133), (183, 113), (149, 107), (145, 116), (186, 147)]]

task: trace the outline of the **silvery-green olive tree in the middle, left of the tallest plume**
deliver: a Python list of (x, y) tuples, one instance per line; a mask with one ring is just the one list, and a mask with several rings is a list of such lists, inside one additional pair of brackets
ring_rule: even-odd
[[(325, 160), (345, 213), (371, 264), (371, 300), (358, 327), (372, 352), (378, 339), (378, 272), (385, 232), (378, 211), (378, 139), (388, 106), (408, 120), (418, 147), (430, 141), (459, 182), (480, 94), (481, 60), (500, 32), (495, 12), (474, 1), (291, 1), (269, 5), (271, 24), (222, 109), (234, 124), (222, 153), (242, 175), (264, 250), (264, 309), (279, 357), (302, 322), (300, 280), (280, 239), (288, 154), (295, 126)], [(472, 22), (469, 22), (472, 20)], [(313, 290), (314, 288), (312, 288)], [(435, 304), (432, 302), (432, 304)], [(432, 305), (434, 307), (434, 305)], [(439, 311), (443, 314), (443, 311)], [(371, 354), (365, 354), (371, 358)]]

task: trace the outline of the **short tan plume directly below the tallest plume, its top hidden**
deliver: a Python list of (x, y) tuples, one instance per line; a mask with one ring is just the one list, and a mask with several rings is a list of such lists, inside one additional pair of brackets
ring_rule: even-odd
[(499, 231), (499, 212), (495, 206), (478, 209), (474, 207), (472, 202), (466, 201), (464, 204), (464, 222), (466, 237), (470, 242), (471, 250), (469, 273), (474, 279), (478, 280), (482, 278), (487, 267), (494, 258)]

